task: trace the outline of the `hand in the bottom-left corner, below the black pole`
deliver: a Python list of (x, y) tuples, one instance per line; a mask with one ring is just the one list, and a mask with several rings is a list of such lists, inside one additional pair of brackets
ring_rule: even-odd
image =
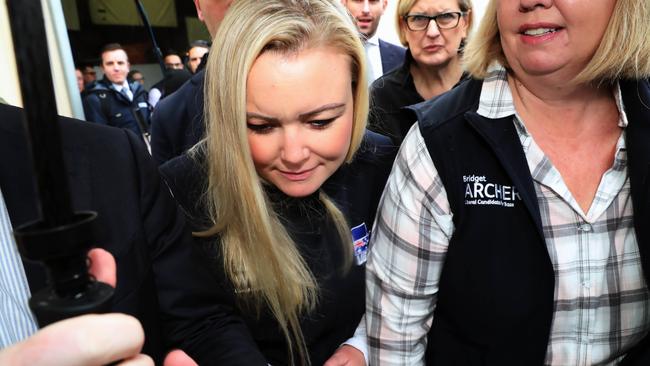
[(153, 366), (140, 354), (142, 326), (125, 314), (83, 315), (53, 323), (0, 351), (0, 365)]

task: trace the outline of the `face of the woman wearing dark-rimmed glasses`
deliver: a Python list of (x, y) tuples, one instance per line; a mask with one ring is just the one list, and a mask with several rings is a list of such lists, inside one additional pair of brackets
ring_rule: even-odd
[[(456, 0), (419, 0), (408, 14), (434, 16), (460, 11)], [(400, 20), (400, 26), (413, 58), (418, 64), (424, 66), (443, 67), (457, 58), (460, 43), (467, 36), (466, 17), (461, 17), (458, 26), (452, 29), (439, 29), (434, 20), (429, 22), (427, 29), (421, 31), (409, 30), (403, 20)]]

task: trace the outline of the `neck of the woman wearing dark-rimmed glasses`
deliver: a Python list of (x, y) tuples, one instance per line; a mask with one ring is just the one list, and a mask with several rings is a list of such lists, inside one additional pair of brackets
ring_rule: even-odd
[(411, 63), (411, 75), (415, 89), (424, 100), (431, 99), (451, 89), (463, 75), (460, 59), (454, 57), (448, 63), (436, 67)]

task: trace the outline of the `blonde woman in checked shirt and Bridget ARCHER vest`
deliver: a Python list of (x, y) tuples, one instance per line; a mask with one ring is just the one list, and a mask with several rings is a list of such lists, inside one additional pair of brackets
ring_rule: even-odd
[(371, 364), (650, 364), (648, 19), (490, 1), (474, 79), (415, 108), (386, 185)]

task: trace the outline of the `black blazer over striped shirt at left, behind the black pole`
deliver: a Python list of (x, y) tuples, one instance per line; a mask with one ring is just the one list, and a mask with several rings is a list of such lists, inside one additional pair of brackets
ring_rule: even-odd
[[(39, 216), (22, 120), (21, 109), (0, 105), (0, 189), (14, 228)], [(117, 262), (113, 311), (140, 320), (146, 335), (143, 351), (161, 363), (166, 331), (169, 347), (185, 347), (205, 334), (222, 344), (223, 352), (239, 352), (221, 329), (224, 323), (237, 328), (238, 320), (216, 305), (210, 274), (194, 265), (183, 215), (142, 141), (123, 129), (60, 121), (73, 208), (99, 214), (97, 246)], [(23, 264), (31, 291), (42, 288), (43, 268)], [(194, 347), (205, 348), (201, 342)]]

